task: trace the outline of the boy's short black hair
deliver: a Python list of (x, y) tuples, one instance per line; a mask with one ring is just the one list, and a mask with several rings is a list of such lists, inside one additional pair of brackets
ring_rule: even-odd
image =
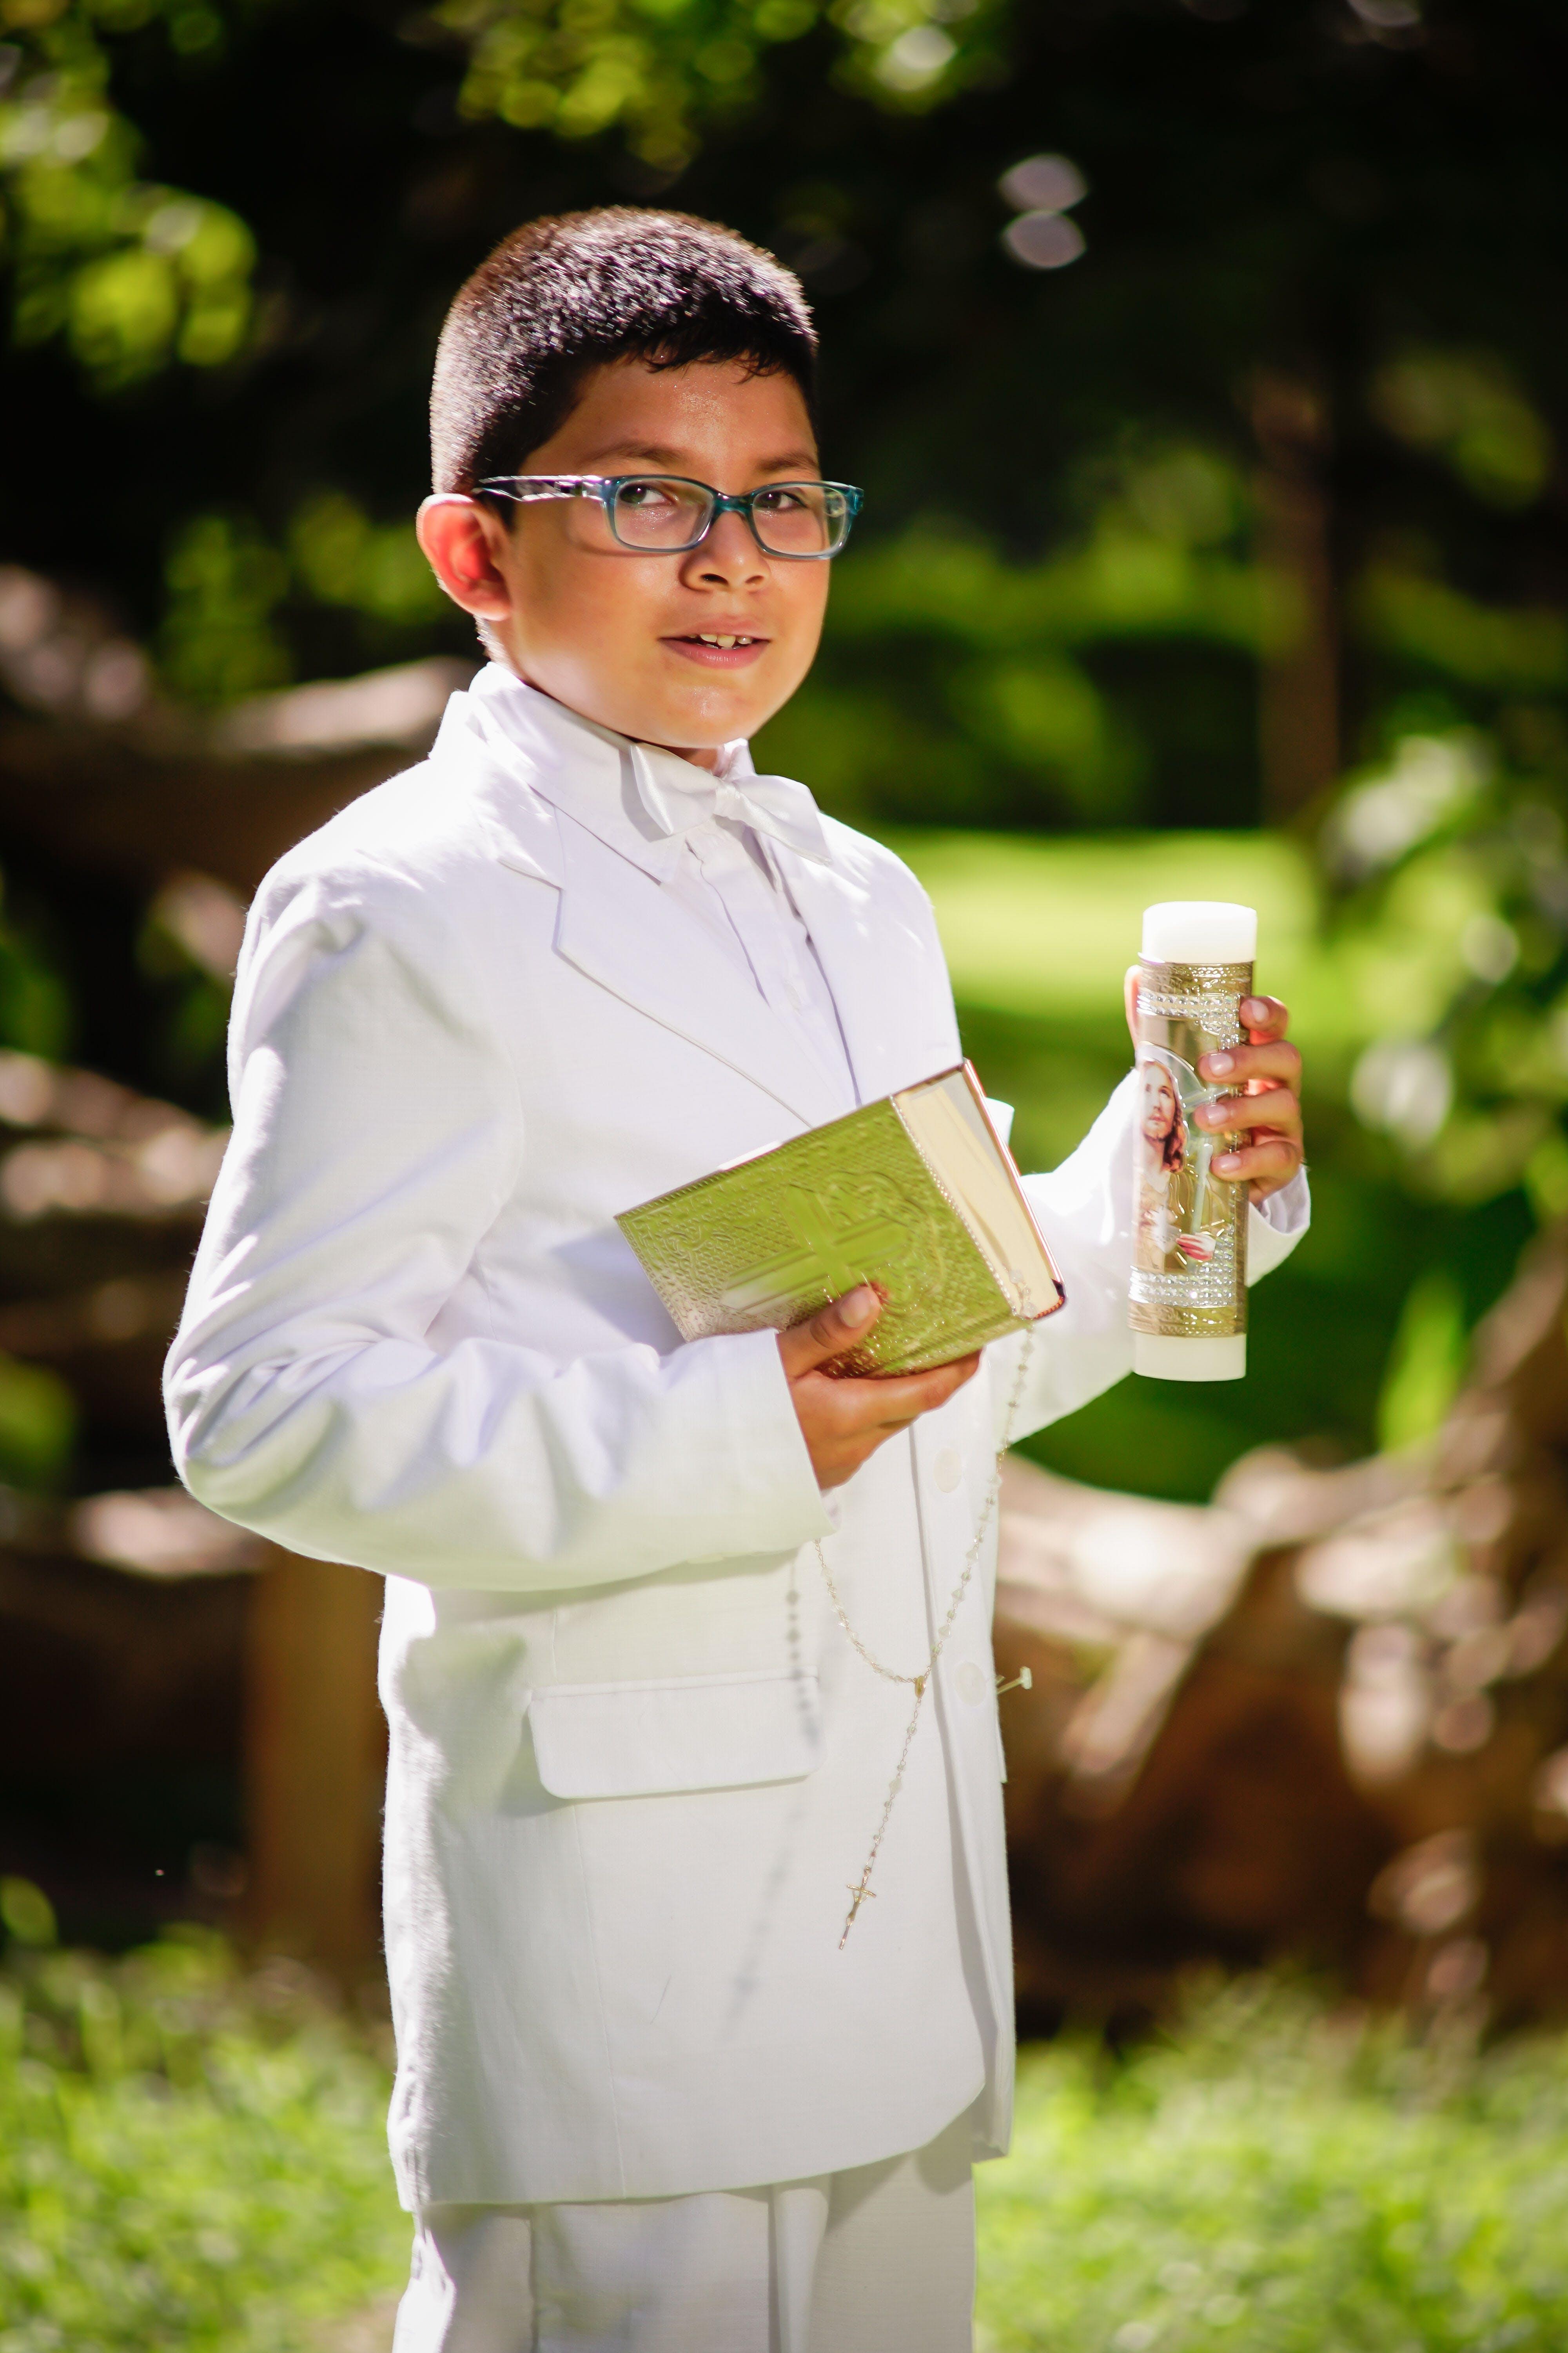
[(788, 374), (816, 416), (816, 327), (799, 278), (733, 228), (604, 205), (527, 221), (458, 292), (435, 355), (435, 489), (515, 473), (609, 360), (741, 360)]

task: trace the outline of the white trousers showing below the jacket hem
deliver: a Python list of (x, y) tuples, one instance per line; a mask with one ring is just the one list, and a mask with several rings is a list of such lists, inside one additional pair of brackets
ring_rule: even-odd
[(971, 2353), (971, 2129), (816, 2181), (430, 2207), (393, 2353)]

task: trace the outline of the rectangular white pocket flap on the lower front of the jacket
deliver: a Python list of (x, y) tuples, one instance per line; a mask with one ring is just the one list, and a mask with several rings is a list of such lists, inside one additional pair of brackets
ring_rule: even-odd
[(816, 1675), (557, 1682), (529, 1699), (552, 1798), (661, 1798), (799, 1781), (823, 1762)]

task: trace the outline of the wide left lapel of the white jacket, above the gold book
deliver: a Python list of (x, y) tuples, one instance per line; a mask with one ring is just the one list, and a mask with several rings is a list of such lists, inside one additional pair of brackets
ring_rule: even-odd
[(559, 842), (555, 946), (567, 962), (741, 1071), (806, 1127), (842, 1113), (827, 1075), (795, 1028), (736, 972), (701, 922), (564, 809)]

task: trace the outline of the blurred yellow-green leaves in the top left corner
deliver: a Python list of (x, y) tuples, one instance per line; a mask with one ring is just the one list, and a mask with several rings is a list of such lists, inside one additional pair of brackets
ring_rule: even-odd
[(0, 256), (19, 344), (63, 336), (99, 393), (179, 360), (219, 367), (252, 325), (256, 247), (226, 205), (141, 176), (103, 35), (162, 19), (179, 59), (219, 49), (202, 0), (5, 0)]

